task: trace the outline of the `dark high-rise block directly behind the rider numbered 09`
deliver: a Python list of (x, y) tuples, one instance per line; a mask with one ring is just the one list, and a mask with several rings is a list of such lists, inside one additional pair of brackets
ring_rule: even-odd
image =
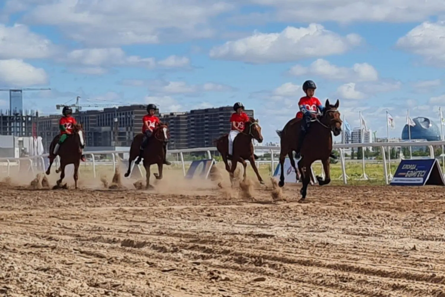
[[(187, 116), (187, 147), (211, 147), (213, 141), (221, 135), (229, 133), (231, 123), (229, 121), (233, 107), (214, 107), (194, 109)], [(253, 110), (244, 111), (253, 117)]]

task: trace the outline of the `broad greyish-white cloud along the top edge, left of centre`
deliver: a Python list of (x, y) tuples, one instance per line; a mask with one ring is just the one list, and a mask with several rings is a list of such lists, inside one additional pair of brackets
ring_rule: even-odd
[(24, 20), (56, 25), (65, 36), (94, 47), (211, 37), (211, 18), (234, 7), (205, 0), (41, 2), (24, 15)]

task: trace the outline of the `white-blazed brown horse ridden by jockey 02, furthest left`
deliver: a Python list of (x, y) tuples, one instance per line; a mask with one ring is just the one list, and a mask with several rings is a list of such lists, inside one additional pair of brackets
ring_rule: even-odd
[[(60, 135), (54, 137), (53, 141), (49, 145), (49, 166), (46, 170), (46, 174), (49, 175), (51, 166), (57, 155), (60, 157), (60, 179), (57, 180), (57, 186), (60, 186), (62, 180), (65, 178), (65, 166), (68, 164), (74, 165), (74, 184), (77, 189), (77, 180), (79, 178), (79, 164), (81, 162), (82, 149), (85, 147), (85, 138), (83, 135), (82, 124), (73, 125), (73, 134), (68, 135), (68, 138), (61, 144), (57, 155), (53, 153), (54, 147), (60, 139)], [(57, 170), (59, 171), (59, 170)]]

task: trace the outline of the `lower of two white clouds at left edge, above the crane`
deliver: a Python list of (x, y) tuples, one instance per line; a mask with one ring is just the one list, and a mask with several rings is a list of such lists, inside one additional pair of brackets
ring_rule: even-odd
[(0, 60), (0, 82), (7, 86), (25, 87), (49, 82), (42, 68), (36, 68), (21, 59)]

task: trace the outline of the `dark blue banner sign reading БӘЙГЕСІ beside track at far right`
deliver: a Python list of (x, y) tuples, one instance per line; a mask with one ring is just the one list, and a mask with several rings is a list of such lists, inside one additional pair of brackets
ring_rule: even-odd
[(390, 184), (392, 186), (445, 186), (445, 181), (437, 159), (406, 159), (400, 162)]

